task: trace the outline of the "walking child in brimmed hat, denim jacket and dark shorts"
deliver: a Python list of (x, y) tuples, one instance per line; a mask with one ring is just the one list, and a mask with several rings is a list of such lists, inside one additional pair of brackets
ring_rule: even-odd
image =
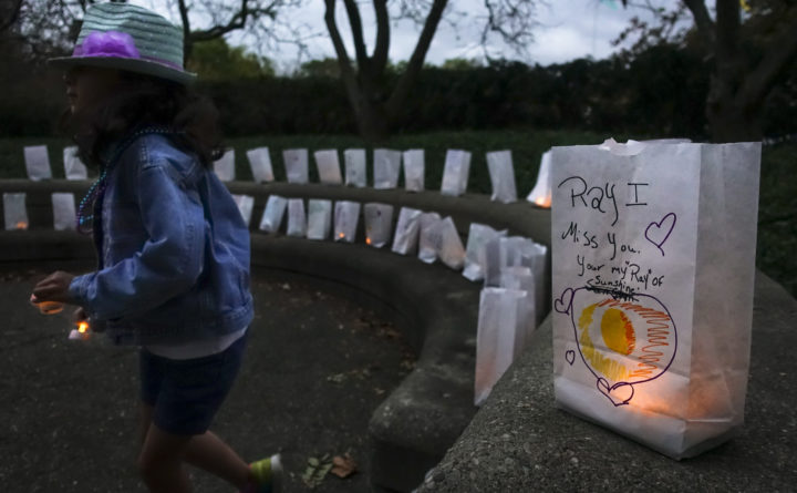
[(76, 305), (115, 343), (141, 346), (142, 449), (152, 492), (189, 492), (188, 462), (241, 492), (279, 487), (279, 455), (246, 464), (208, 427), (240, 367), (249, 232), (208, 171), (220, 155), (211, 103), (187, 89), (182, 30), (126, 3), (91, 6), (64, 66), (81, 158), (100, 178), (81, 202), (96, 271), (56, 271), (37, 301)]

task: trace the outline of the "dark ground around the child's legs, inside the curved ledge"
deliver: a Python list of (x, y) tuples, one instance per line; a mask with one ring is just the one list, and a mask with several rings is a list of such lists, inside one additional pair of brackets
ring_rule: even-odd
[[(143, 492), (134, 468), (137, 350), (66, 339), (65, 312), (28, 297), (42, 273), (0, 275), (0, 491)], [(309, 461), (349, 453), (358, 471), (313, 491), (368, 487), (368, 422), (413, 368), (396, 330), (311, 285), (255, 277), (257, 316), (236, 387), (213, 430), (251, 461), (280, 451), (286, 492), (309, 491)], [(325, 456), (325, 458), (324, 458)], [(234, 492), (192, 470), (195, 492)]]

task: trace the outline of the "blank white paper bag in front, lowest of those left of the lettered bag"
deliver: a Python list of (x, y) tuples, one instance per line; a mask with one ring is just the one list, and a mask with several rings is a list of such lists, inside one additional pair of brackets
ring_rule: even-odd
[(482, 405), (513, 360), (522, 350), (526, 331), (522, 302), (526, 291), (485, 288), (476, 331), (474, 404)]

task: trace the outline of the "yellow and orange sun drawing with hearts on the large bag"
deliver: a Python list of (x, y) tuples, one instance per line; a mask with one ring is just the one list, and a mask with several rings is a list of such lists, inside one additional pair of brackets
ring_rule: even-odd
[[(653, 296), (568, 288), (555, 309), (570, 317), (581, 361), (615, 407), (628, 404), (635, 387), (664, 374), (675, 358), (675, 323)], [(572, 366), (575, 351), (565, 358)]]

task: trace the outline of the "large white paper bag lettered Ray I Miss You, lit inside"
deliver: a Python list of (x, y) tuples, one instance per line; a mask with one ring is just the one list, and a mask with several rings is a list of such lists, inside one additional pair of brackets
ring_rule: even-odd
[(555, 147), (557, 404), (675, 459), (733, 435), (760, 143)]

